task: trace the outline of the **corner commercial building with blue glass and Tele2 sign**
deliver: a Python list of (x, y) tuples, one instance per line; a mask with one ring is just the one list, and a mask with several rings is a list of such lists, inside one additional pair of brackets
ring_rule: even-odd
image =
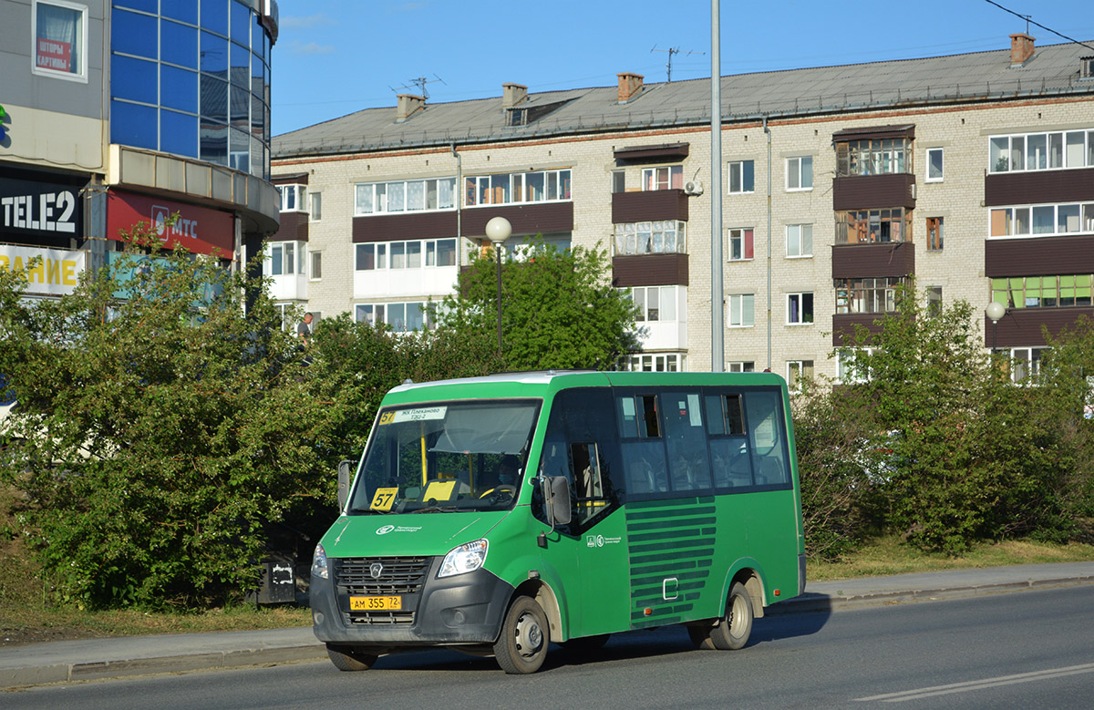
[[(0, 267), (70, 293), (121, 232), (237, 268), (277, 231), (272, 0), (0, 0)], [(178, 213), (168, 225), (166, 218)]]

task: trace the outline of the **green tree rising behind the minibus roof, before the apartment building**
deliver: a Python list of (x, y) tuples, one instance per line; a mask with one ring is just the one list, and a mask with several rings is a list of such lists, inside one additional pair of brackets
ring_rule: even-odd
[[(473, 255), (456, 294), (437, 314), (442, 329), (477, 346), (497, 345), (498, 276), (494, 253)], [(614, 368), (636, 349), (635, 309), (612, 287), (607, 254), (580, 246), (560, 252), (534, 243), (508, 257), (501, 275), (505, 370)]]

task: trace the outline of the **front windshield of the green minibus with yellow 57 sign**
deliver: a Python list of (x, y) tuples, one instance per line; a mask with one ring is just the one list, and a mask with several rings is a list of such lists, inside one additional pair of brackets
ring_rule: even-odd
[(537, 400), (382, 409), (347, 512), (512, 508), (538, 412)]

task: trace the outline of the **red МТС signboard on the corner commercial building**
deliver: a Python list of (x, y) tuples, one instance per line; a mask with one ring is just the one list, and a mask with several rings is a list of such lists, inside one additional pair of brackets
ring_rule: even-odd
[[(178, 219), (168, 226), (167, 219), (176, 212)], [(177, 245), (196, 254), (216, 254), (226, 259), (235, 252), (235, 229), (229, 212), (112, 190), (106, 207), (107, 235), (121, 240), (118, 230), (129, 231), (138, 222), (150, 225), (167, 249)]]

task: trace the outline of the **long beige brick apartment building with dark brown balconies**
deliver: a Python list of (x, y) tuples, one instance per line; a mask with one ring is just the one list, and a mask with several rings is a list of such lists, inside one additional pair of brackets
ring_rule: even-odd
[(422, 305), (502, 216), (510, 247), (543, 235), (609, 251), (643, 327), (624, 366), (711, 369), (720, 298), (722, 368), (837, 375), (847, 334), (875, 328), (911, 277), (932, 303), (1003, 305), (982, 316), (985, 347), (1036, 366), (1043, 324), (1094, 315), (1094, 51), (1010, 39), (722, 77), (721, 195), (709, 80), (403, 94), (274, 139), (266, 271), (287, 304), (429, 327)]

